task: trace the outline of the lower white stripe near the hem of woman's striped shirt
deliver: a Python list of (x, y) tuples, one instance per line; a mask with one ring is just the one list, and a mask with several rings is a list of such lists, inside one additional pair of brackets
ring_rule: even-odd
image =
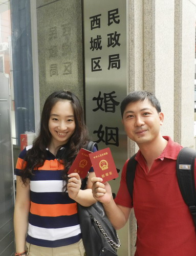
[(63, 228), (42, 228), (29, 224), (28, 234), (33, 238), (55, 241), (77, 236), (81, 233), (80, 225)]

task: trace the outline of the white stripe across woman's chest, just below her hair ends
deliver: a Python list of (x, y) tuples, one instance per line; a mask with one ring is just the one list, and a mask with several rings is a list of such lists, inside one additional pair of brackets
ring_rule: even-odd
[(33, 192), (62, 192), (62, 187), (62, 180), (30, 181), (30, 189)]

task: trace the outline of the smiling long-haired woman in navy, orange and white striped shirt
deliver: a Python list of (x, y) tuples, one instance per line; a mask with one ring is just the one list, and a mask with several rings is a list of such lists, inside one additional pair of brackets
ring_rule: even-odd
[(79, 99), (68, 91), (51, 94), (43, 106), (38, 137), (16, 164), (16, 255), (84, 255), (77, 203), (95, 202), (94, 171), (85, 190), (80, 189), (79, 175), (67, 172), (88, 142)]

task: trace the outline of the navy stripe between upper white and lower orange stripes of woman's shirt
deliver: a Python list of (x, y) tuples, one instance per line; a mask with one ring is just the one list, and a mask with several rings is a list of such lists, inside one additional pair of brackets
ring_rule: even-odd
[(68, 193), (62, 192), (46, 192), (38, 193), (31, 191), (31, 201), (36, 204), (73, 204), (75, 201), (71, 199)]

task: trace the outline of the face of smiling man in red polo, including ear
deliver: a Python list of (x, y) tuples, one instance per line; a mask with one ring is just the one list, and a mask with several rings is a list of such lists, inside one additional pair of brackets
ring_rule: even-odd
[(158, 113), (148, 99), (145, 99), (126, 106), (122, 123), (127, 136), (140, 146), (153, 142), (160, 136), (163, 117), (163, 113)]

